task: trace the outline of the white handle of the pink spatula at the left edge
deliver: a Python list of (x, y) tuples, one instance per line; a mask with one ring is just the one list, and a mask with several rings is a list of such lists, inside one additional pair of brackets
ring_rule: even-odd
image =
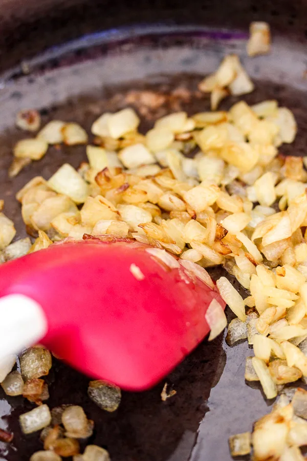
[(17, 294), (0, 298), (0, 364), (42, 339), (47, 328), (45, 314), (33, 299)]

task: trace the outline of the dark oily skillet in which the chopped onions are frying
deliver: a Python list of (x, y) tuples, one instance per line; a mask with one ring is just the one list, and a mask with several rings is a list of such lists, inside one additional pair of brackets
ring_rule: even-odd
[[(21, 2), (10, 0), (0, 6), (0, 198), (16, 223), (17, 237), (25, 236), (25, 230), (16, 191), (38, 174), (50, 177), (65, 161), (78, 166), (85, 160), (82, 146), (52, 148), (9, 181), (12, 145), (25, 136), (13, 127), (22, 108), (38, 108), (43, 122), (76, 120), (89, 130), (101, 112), (124, 107), (130, 90), (149, 88), (164, 94), (165, 103), (147, 113), (141, 127), (147, 129), (155, 117), (169, 111), (208, 110), (208, 98), (199, 95), (197, 83), (224, 54), (235, 52), (256, 82), (247, 102), (276, 98), (292, 109), (298, 136), (281, 152), (305, 155), (306, 5), (28, 0), (25, 10)], [(273, 52), (251, 59), (245, 46), (248, 25), (256, 19), (271, 24)], [(222, 108), (235, 101), (228, 99)], [(221, 269), (213, 271), (213, 276), (220, 275)], [(251, 430), (253, 421), (273, 403), (265, 401), (258, 386), (252, 389), (244, 382), (245, 358), (250, 354), (246, 343), (229, 348), (222, 336), (212, 343), (204, 341), (165, 380), (177, 390), (176, 396), (161, 401), (163, 381), (147, 392), (123, 393), (115, 413), (101, 411), (88, 399), (88, 378), (54, 360), (47, 377), (48, 404), (81, 405), (95, 421), (89, 443), (107, 448), (113, 461), (229, 461), (228, 436)], [(19, 430), (18, 415), (32, 404), (4, 393), (0, 398), (0, 425), (15, 433), (10, 446), (0, 444), (1, 459), (26, 461), (42, 447), (38, 434), (26, 437)]]

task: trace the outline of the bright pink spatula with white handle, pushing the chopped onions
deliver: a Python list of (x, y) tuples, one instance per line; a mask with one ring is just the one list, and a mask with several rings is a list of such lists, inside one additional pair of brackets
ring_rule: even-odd
[(148, 388), (204, 339), (210, 302), (225, 307), (193, 267), (148, 245), (99, 239), (3, 264), (0, 359), (40, 343), (93, 378)]

